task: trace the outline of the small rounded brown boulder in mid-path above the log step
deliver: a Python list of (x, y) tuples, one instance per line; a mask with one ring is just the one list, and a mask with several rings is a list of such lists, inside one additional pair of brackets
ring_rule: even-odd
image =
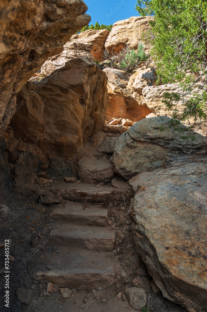
[(77, 172), (84, 183), (109, 182), (114, 176), (112, 164), (89, 157), (78, 161)]

